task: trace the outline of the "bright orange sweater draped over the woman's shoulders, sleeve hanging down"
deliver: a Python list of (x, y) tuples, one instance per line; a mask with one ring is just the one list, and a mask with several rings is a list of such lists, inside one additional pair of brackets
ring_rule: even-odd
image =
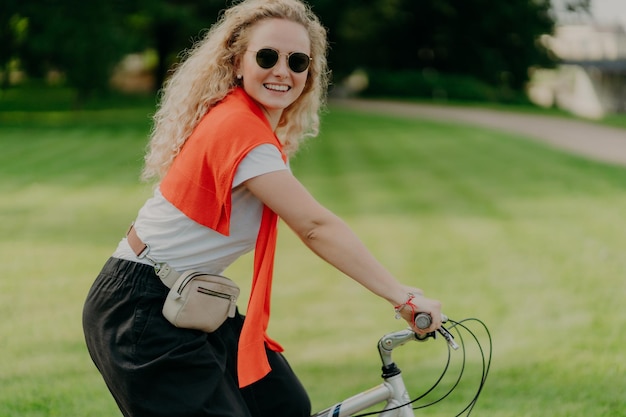
[[(200, 121), (160, 184), (163, 196), (190, 219), (229, 235), (232, 183), (241, 160), (253, 148), (282, 145), (258, 105), (235, 88)], [(248, 310), (239, 338), (237, 376), (245, 387), (270, 371), (265, 346), (283, 348), (267, 335), (278, 216), (263, 208), (254, 250)]]

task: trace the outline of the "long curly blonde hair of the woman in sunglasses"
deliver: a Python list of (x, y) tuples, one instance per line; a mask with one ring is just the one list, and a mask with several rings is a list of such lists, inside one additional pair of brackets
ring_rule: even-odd
[(165, 82), (154, 115), (143, 180), (161, 179), (200, 119), (240, 83), (236, 70), (247, 49), (250, 28), (270, 18), (304, 26), (312, 58), (304, 90), (283, 111), (276, 135), (288, 155), (293, 155), (304, 139), (317, 136), (329, 83), (326, 29), (300, 0), (239, 1), (184, 54), (182, 63)]

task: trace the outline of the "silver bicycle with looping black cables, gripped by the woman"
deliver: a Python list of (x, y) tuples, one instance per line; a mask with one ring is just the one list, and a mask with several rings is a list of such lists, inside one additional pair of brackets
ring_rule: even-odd
[[(378, 341), (378, 352), (380, 354), (380, 358), (383, 364), (382, 375), (381, 375), (381, 377), (383, 378), (383, 383), (369, 390), (360, 392), (347, 399), (344, 399), (343, 401), (340, 401), (336, 403), (335, 405), (326, 408), (323, 411), (313, 414), (311, 417), (365, 417), (365, 416), (370, 416), (370, 415), (380, 415), (382, 417), (415, 417), (414, 410), (426, 408), (426, 407), (439, 403), (444, 398), (446, 398), (450, 393), (452, 393), (452, 391), (454, 391), (454, 389), (458, 386), (459, 382), (461, 381), (461, 378), (463, 376), (463, 372), (465, 369), (465, 364), (466, 364), (466, 358), (465, 358), (466, 348), (465, 348), (465, 341), (463, 339), (462, 332), (466, 332), (472, 336), (474, 342), (478, 346), (478, 350), (480, 351), (480, 355), (482, 357), (482, 376), (480, 378), (480, 382), (479, 382), (479, 386), (476, 391), (476, 394), (471, 399), (469, 404), (461, 412), (459, 412), (456, 415), (458, 417), (458, 416), (461, 416), (463, 413), (467, 413), (466, 415), (469, 416), (471, 411), (474, 408), (474, 405), (476, 404), (476, 401), (478, 400), (480, 393), (482, 392), (485, 381), (487, 379), (487, 375), (489, 373), (489, 368), (491, 366), (491, 349), (492, 349), (491, 335), (489, 333), (489, 329), (487, 328), (487, 326), (478, 319), (471, 318), (471, 319), (465, 319), (465, 320), (456, 322), (453, 320), (449, 320), (447, 317), (444, 316), (444, 323), (447, 323), (447, 322), (452, 324), (450, 329), (456, 332), (457, 337), (459, 338), (460, 346), (459, 344), (457, 344), (455, 337), (452, 335), (452, 333), (444, 326), (441, 326), (441, 328), (438, 329), (437, 332), (431, 332), (431, 333), (427, 333), (424, 335), (420, 335), (411, 329), (405, 329), (405, 330), (400, 330), (400, 331), (396, 331), (393, 333), (388, 333), (384, 335)], [(489, 350), (487, 352), (487, 356), (485, 356), (485, 350), (483, 349), (476, 334), (464, 324), (467, 322), (479, 323), (484, 329), (484, 331), (486, 332), (487, 340), (489, 343)], [(420, 313), (416, 315), (415, 317), (415, 325), (418, 329), (427, 329), (428, 327), (430, 327), (430, 323), (431, 323), (431, 318), (428, 314)], [(448, 346), (447, 364), (444, 367), (443, 373), (441, 374), (439, 379), (434, 383), (434, 385), (430, 387), (430, 389), (428, 389), (421, 396), (411, 400), (407, 392), (407, 389), (405, 387), (404, 380), (402, 378), (402, 371), (400, 371), (400, 368), (398, 368), (398, 366), (395, 364), (395, 362), (392, 359), (392, 352), (395, 348), (400, 347), (410, 341), (424, 342), (428, 339), (436, 339), (437, 334), (441, 335), (447, 343), (447, 346)], [(420, 399), (425, 398), (426, 395), (431, 393), (435, 389), (435, 387), (437, 387), (437, 385), (442, 381), (444, 375), (449, 369), (452, 351), (453, 350), (456, 351), (459, 348), (461, 348), (461, 351), (463, 353), (463, 356), (461, 359), (462, 367), (461, 367), (460, 374), (456, 382), (452, 386), (452, 388), (450, 388), (448, 392), (442, 395), (439, 399), (432, 401), (425, 405), (414, 407), (413, 406), (414, 403), (416, 403)], [(368, 410), (371, 407), (374, 407), (375, 405), (380, 404), (380, 403), (385, 403), (384, 408), (380, 411), (357, 414), (365, 410)]]

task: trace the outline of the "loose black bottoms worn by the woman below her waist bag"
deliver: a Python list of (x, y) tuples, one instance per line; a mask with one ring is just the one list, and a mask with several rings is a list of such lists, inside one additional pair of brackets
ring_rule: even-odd
[(126, 417), (308, 417), (306, 391), (280, 353), (272, 371), (239, 389), (244, 317), (215, 332), (179, 329), (161, 312), (168, 288), (149, 265), (110, 258), (83, 310), (89, 353)]

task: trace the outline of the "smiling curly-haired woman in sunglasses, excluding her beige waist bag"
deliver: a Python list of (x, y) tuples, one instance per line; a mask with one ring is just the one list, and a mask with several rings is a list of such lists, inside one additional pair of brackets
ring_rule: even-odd
[[(89, 292), (89, 352), (125, 416), (309, 416), (308, 396), (265, 329), (283, 221), (316, 254), (396, 307), (441, 324), (440, 304), (400, 284), (292, 176), (317, 134), (326, 33), (299, 0), (246, 0), (220, 17), (165, 85), (144, 179), (156, 179)], [(215, 332), (162, 315), (172, 279), (219, 274), (255, 250), (246, 317)], [(158, 274), (157, 274), (158, 272)]]

